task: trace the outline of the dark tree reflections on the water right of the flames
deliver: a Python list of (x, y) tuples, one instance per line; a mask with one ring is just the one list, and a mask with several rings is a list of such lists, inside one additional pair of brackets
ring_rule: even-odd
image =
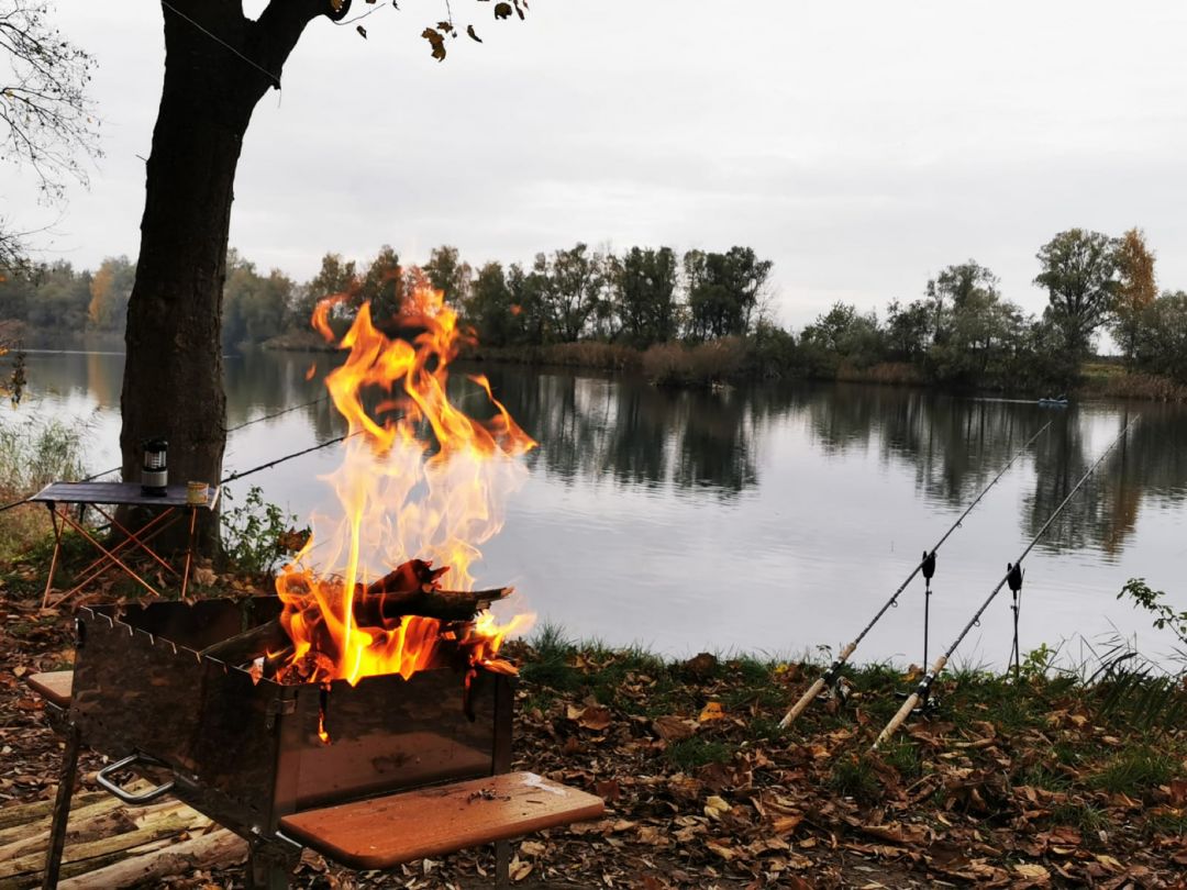
[[(666, 390), (641, 382), (496, 369), (495, 392), (540, 443), (539, 472), (565, 483), (614, 481), (729, 501), (761, 484), (764, 431), (802, 425), (827, 459), (874, 451), (910, 472), (916, 495), (959, 508), (1017, 451), (1027, 494), (1020, 514), (1033, 538), (1137, 413), (1124, 406), (1049, 409), (1004, 399), (957, 399), (893, 387), (789, 386), (719, 393)], [(1142, 421), (1050, 526), (1042, 548), (1096, 547), (1116, 558), (1137, 526), (1144, 495), (1187, 495), (1187, 412), (1141, 406)]]

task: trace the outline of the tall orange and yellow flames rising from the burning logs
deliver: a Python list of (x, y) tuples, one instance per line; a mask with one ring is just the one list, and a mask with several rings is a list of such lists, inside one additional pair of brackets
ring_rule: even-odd
[[(315, 310), (313, 326), (329, 342), (332, 310), (348, 298), (337, 294)], [(393, 323), (402, 336), (379, 330), (363, 304), (337, 344), (348, 356), (326, 388), (349, 428), (342, 464), (323, 479), (342, 517), (323, 534), (325, 521), (315, 516), (313, 535), (277, 578), (281, 623), (293, 642), (290, 663), (305, 665), (309, 681), (408, 678), (458, 653), (471, 666), (508, 669), (499, 648), (525, 625), (519, 616), (499, 627), (489, 612), (475, 622), (388, 616), (382, 586), (377, 596), (368, 591), (411, 561), (426, 574), (402, 579), (406, 593), (434, 592), (446, 567), (451, 589), (472, 591), (478, 548), (502, 527), (504, 498), (527, 473), (519, 458), (535, 446), (484, 376), (469, 377), (471, 392), (450, 401), (447, 368), (463, 335), (440, 291), (413, 288)], [(490, 406), (490, 417), (464, 413), (459, 405), (471, 399)], [(318, 568), (310, 565), (315, 541), (325, 549)]]

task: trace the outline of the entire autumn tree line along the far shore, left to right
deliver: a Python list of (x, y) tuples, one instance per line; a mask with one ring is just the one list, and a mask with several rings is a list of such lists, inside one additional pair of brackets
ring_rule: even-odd
[[(1187, 293), (1160, 295), (1155, 256), (1141, 230), (1110, 237), (1068, 229), (1043, 244), (1036, 260), (1035, 284), (1048, 294), (1037, 317), (1002, 295), (991, 269), (969, 260), (944, 268), (918, 299), (891, 300), (881, 316), (838, 303), (796, 336), (772, 320), (772, 262), (747, 247), (680, 255), (669, 247), (615, 253), (578, 243), (537, 254), (529, 265), (475, 267), (444, 246), (413, 269), (385, 246), (363, 263), (328, 253), (305, 282), (279, 269), (265, 274), (231, 250), (223, 342), (234, 348), (307, 331), (313, 306), (332, 293), (350, 294), (336, 310), (338, 324), (364, 300), (376, 318), (392, 316), (420, 276), (459, 309), (483, 347), (512, 355), (594, 342), (645, 357), (662, 354), (669, 362), (699, 348), (702, 355), (730, 356), (697, 371), (705, 379), (728, 369), (1021, 389), (1074, 383), (1106, 329), (1130, 370), (1187, 383)], [(32, 268), (0, 281), (0, 319), (38, 330), (119, 332), (134, 272), (122, 256), (94, 273), (65, 262)]]

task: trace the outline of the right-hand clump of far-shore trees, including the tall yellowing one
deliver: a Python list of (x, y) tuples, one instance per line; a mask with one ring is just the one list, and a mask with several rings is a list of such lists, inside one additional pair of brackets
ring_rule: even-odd
[(893, 300), (884, 319), (838, 303), (804, 329), (798, 349), (812, 376), (886, 362), (954, 387), (1069, 386), (1109, 330), (1126, 367), (1187, 382), (1187, 294), (1157, 293), (1155, 258), (1140, 229), (1113, 239), (1068, 229), (1036, 254), (1048, 305), (1030, 317), (1002, 297), (975, 260), (948, 266), (920, 299)]

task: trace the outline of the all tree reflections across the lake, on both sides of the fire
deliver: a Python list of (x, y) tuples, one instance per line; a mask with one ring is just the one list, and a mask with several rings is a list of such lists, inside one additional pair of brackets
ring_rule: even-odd
[[(307, 402), (294, 413), (307, 424), (307, 438), (258, 443), (252, 453), (266, 452), (264, 445), (269, 445), (279, 456), (342, 434), (343, 422), (324, 398), (323, 381), (336, 360), (323, 352), (228, 356), (228, 428)], [(761, 488), (774, 462), (791, 458), (786, 451), (761, 456), (761, 450), (770, 450), (767, 443), (802, 430), (815, 459), (876, 456), (883, 473), (914, 479), (918, 498), (958, 509), (1049, 421), (1050, 430), (1013, 471), (1024, 478), (1018, 525), (1029, 539), (1109, 441), (1141, 413), (1141, 422), (1065, 508), (1041, 548), (1059, 553), (1092, 547), (1116, 560), (1138, 527), (1143, 504), (1174, 507), (1187, 497), (1187, 450), (1175, 446), (1187, 440), (1187, 411), (1175, 406), (1045, 409), (1032, 402), (852, 384), (671, 390), (510, 365), (481, 370), (540, 443), (529, 457), (533, 471), (561, 485), (612, 484), (731, 503)], [(118, 409), (121, 375), (122, 356), (113, 354), (34, 352), (28, 361), (31, 392), (103, 409)], [(455, 375), (451, 389), (468, 411), (484, 411), (480, 392), (464, 374)], [(178, 405), (184, 408), (184, 394)], [(247, 427), (265, 437), (267, 428), (267, 422)]]

